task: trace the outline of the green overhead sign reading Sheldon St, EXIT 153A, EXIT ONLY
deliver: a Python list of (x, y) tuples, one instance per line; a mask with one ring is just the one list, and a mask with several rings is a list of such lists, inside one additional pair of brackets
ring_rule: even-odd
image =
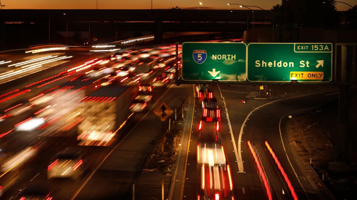
[(331, 43), (249, 43), (247, 80), (250, 82), (329, 82)]

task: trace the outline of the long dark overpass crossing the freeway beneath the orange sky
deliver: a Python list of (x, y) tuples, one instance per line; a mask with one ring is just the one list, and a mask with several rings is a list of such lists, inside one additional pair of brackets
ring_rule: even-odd
[(48, 42), (56, 31), (84, 31), (90, 39), (95, 32), (114, 37), (117, 31), (147, 31), (161, 43), (163, 32), (242, 33), (272, 24), (270, 10), (0, 10), (3, 45), (14, 37), (22, 43), (34, 37)]

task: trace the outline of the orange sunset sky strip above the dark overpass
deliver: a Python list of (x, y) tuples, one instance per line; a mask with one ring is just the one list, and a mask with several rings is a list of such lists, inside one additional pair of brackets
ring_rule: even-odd
[[(150, 9), (151, 0), (97, 0), (98, 9)], [(153, 9), (182, 9), (196, 8), (198, 0), (152, 0)], [(201, 0), (200, 9), (242, 9), (237, 5), (228, 6), (227, 3), (239, 3), (248, 6), (259, 6), (270, 10), (281, 0)], [(345, 0), (347, 4), (355, 5), (356, 0)], [(96, 9), (96, 0), (1, 0), (4, 9)], [(348, 10), (345, 4), (337, 3), (337, 10)]]

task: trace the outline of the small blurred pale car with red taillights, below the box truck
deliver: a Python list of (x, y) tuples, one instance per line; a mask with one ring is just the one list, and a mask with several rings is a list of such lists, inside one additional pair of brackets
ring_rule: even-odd
[(84, 173), (85, 153), (82, 148), (68, 147), (57, 153), (47, 167), (47, 179), (71, 178), (77, 179)]

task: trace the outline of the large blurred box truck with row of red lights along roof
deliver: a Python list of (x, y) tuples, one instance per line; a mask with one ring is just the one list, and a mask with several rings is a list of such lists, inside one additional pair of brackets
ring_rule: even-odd
[(131, 116), (129, 107), (137, 93), (137, 83), (132, 86), (109, 85), (82, 99), (80, 112), (84, 119), (78, 125), (79, 145), (110, 146)]

